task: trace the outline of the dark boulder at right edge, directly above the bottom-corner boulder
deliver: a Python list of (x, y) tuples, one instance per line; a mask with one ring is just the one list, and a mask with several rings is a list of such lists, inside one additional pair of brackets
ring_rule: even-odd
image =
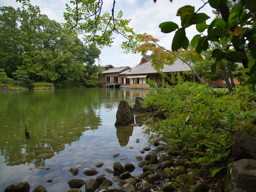
[(231, 153), (235, 160), (256, 159), (256, 139), (237, 130), (233, 133), (233, 141)]

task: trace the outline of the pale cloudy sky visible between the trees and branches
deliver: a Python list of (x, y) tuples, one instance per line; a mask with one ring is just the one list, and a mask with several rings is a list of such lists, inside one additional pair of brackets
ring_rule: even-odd
[[(33, 6), (38, 5), (42, 14), (48, 16), (49, 19), (55, 20), (59, 23), (63, 23), (63, 12), (66, 10), (66, 5), (70, 0), (30, 0)], [(171, 49), (172, 38), (175, 31), (169, 34), (161, 32), (158, 27), (160, 23), (165, 21), (172, 21), (180, 26), (180, 17), (176, 16), (177, 10), (185, 5), (195, 6), (197, 11), (202, 5), (202, 0), (116, 0), (115, 13), (117, 14), (122, 10), (123, 19), (131, 19), (129, 27), (134, 28), (137, 34), (147, 33), (160, 40), (159, 44), (167, 49)], [(71, 4), (69, 4), (71, 5)], [(111, 12), (113, 0), (103, 0), (103, 9)], [(16, 2), (16, 0), (0, 0), (0, 6), (12, 6), (14, 8), (21, 7), (22, 4)], [(207, 4), (199, 12), (206, 13), (210, 19), (206, 20), (207, 24), (210, 24), (214, 15), (212, 14), (212, 8)], [(199, 13), (198, 12), (198, 13)], [(196, 28), (191, 26), (186, 29), (186, 35), (189, 40), (194, 35), (198, 34)], [(82, 40), (82, 35), (79, 38)], [(100, 61), (96, 60), (95, 64), (112, 65), (114, 67), (135, 67), (140, 63), (140, 53), (124, 53), (120, 44), (125, 39), (120, 35), (114, 35), (115, 40), (111, 47), (105, 47), (101, 49)]]

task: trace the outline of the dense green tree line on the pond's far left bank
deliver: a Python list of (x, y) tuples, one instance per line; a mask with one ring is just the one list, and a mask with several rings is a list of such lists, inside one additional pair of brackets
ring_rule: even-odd
[(101, 70), (94, 64), (99, 55), (96, 46), (83, 44), (38, 6), (0, 7), (0, 68), (8, 78), (22, 71), (33, 82), (90, 80)]

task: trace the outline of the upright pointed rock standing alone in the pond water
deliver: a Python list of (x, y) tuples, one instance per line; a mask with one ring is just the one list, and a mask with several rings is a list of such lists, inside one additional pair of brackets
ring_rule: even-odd
[(125, 100), (121, 100), (116, 112), (115, 125), (125, 125), (134, 123), (134, 113), (132, 106)]

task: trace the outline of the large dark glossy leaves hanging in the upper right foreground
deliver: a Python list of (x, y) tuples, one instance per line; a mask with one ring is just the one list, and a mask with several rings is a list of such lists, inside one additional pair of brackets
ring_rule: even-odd
[[(210, 17), (205, 13), (198, 13), (207, 3), (216, 9), (221, 17), (215, 18), (210, 25), (206, 25), (206, 20)], [(209, 49), (209, 42), (218, 42), (226, 48), (225, 50), (216, 48), (212, 51), (211, 57), (214, 58), (211, 66), (212, 71), (218, 73), (222, 60), (241, 62), (245, 68), (244, 72), (247, 72), (250, 76), (244, 85), (255, 84), (256, 31), (253, 23), (256, 21), (255, 13), (255, 1), (236, 1), (236, 4), (229, 10), (226, 0), (211, 0), (204, 3), (196, 12), (195, 7), (190, 5), (181, 7), (177, 11), (177, 16), (181, 20), (181, 28), (173, 22), (161, 23), (159, 28), (164, 33), (170, 33), (177, 29), (172, 40), (172, 51), (175, 52), (180, 48), (185, 50), (188, 48), (189, 41), (186, 37), (186, 28), (196, 25), (199, 34), (193, 37), (191, 45), (196, 48), (198, 54)], [(207, 32), (205, 32), (206, 29)], [(203, 32), (207, 35), (204, 35)], [(249, 42), (248, 46), (246, 46), (246, 41)], [(235, 50), (229, 49), (231, 46)], [(250, 59), (248, 59), (246, 52), (251, 52)]]

